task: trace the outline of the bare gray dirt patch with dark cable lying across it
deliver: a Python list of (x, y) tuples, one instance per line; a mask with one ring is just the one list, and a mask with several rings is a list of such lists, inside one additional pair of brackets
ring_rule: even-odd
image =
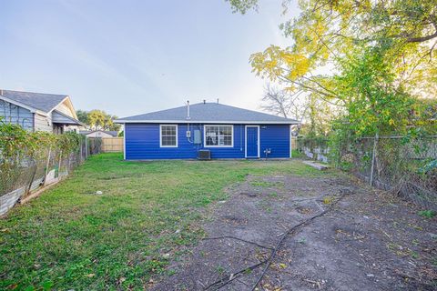
[(248, 176), (228, 191), (152, 289), (437, 289), (436, 219), (398, 197), (339, 177)]

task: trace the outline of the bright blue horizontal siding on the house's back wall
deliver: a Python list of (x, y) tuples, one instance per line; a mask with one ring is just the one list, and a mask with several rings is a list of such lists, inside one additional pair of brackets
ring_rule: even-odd
[[(234, 146), (207, 147), (207, 149), (211, 151), (212, 158), (245, 157), (245, 125), (233, 126)], [(263, 156), (263, 146), (269, 146), (272, 151), (272, 157), (290, 157), (289, 128), (289, 125), (267, 125), (266, 129), (260, 129), (260, 156)], [(202, 135), (202, 145), (194, 145), (188, 142), (188, 138), (186, 137), (188, 125), (186, 124), (178, 125), (178, 147), (159, 147), (159, 124), (126, 124), (126, 159), (141, 160), (196, 158), (198, 156), (198, 149), (204, 148), (204, 125), (189, 125), (189, 129), (191, 130), (192, 136), (194, 130), (200, 130)], [(263, 136), (266, 139), (265, 141), (263, 141)]]

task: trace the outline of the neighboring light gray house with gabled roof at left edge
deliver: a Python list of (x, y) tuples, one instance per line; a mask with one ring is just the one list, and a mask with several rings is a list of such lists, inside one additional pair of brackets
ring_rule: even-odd
[(53, 95), (0, 89), (0, 117), (30, 131), (62, 134), (82, 125), (71, 99)]

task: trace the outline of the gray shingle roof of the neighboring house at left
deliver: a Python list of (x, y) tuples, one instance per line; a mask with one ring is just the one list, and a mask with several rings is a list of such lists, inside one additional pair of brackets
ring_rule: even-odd
[(45, 113), (50, 112), (66, 95), (43, 94), (33, 92), (21, 92), (12, 90), (1, 90), (0, 94), (15, 102), (30, 106)]

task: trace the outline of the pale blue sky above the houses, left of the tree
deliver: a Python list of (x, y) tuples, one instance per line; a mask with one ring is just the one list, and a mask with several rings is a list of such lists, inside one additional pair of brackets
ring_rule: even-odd
[(217, 98), (259, 109), (266, 81), (249, 55), (290, 45), (280, 4), (239, 15), (223, 0), (5, 0), (0, 87), (66, 94), (76, 109), (118, 116)]

